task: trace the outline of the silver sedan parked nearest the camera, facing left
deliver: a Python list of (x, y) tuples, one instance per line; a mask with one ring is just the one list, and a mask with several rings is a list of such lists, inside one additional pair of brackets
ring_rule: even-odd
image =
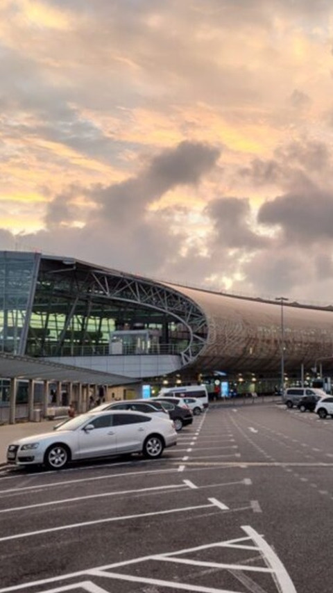
[(62, 469), (70, 461), (142, 453), (157, 459), (177, 443), (173, 422), (142, 412), (114, 411), (81, 414), (55, 430), (35, 434), (8, 446), (9, 464), (44, 464)]

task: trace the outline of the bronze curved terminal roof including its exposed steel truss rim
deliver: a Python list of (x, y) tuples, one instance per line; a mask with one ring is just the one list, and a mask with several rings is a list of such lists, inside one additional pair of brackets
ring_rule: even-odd
[[(92, 268), (101, 291), (110, 298), (165, 311), (187, 327), (190, 339), (182, 352), (183, 366), (198, 373), (219, 370), (277, 374), (282, 336), (280, 302), (205, 291), (85, 265)], [(333, 370), (333, 307), (285, 302), (283, 325), (287, 373), (299, 372), (301, 365), (309, 370), (321, 358), (325, 359), (325, 367)]]

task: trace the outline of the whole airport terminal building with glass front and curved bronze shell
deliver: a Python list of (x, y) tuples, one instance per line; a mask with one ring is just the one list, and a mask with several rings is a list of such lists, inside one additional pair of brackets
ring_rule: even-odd
[(333, 370), (332, 306), (244, 298), (17, 251), (0, 252), (0, 295), (3, 356), (81, 369), (85, 380), (88, 371), (110, 385), (216, 373), (265, 391), (280, 381), (282, 352), (286, 380), (319, 362)]

